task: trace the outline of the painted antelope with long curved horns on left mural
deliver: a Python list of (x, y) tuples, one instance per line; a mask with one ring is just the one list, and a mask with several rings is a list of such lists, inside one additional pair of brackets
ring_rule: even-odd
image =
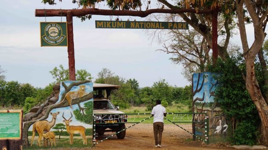
[(64, 116), (64, 113), (62, 114), (63, 122), (65, 122), (66, 130), (70, 134), (70, 144), (73, 145), (73, 134), (80, 134), (80, 136), (84, 139), (84, 145), (87, 145), (87, 137), (86, 137), (86, 128), (83, 126), (70, 126), (70, 120), (73, 117), (73, 114), (71, 113), (71, 117), (69, 119), (66, 119)]

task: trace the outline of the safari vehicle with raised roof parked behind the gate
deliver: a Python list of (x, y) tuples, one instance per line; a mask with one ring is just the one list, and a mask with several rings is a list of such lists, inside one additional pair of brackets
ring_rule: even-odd
[[(119, 106), (114, 106), (114, 104), (108, 99), (112, 90), (118, 89), (119, 85), (109, 85), (109, 84), (99, 84), (93, 83), (93, 112), (102, 113), (103, 115), (95, 115), (96, 123), (96, 133), (98, 135), (104, 134), (104, 132), (118, 132), (125, 129), (124, 122), (127, 122), (127, 115), (119, 111)], [(104, 93), (103, 97), (98, 97), (97, 94), (99, 90)], [(109, 114), (109, 115), (108, 115)], [(126, 130), (121, 131), (116, 134), (117, 138), (125, 138)]]

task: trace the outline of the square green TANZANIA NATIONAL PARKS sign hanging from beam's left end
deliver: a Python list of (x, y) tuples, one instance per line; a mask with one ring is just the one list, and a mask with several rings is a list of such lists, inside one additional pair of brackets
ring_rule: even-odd
[(40, 22), (41, 47), (42, 46), (68, 46), (67, 24)]

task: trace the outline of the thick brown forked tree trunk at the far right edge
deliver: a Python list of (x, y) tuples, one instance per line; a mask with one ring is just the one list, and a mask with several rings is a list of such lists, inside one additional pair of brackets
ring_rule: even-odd
[[(251, 100), (256, 105), (256, 109), (261, 119), (260, 142), (262, 145), (268, 145), (268, 105), (262, 96), (261, 90), (255, 77), (254, 70), (255, 57), (261, 50), (265, 38), (264, 25), (266, 24), (262, 21), (265, 19), (264, 17), (266, 17), (267, 14), (263, 14), (262, 17), (259, 17), (259, 15), (255, 12), (256, 8), (254, 8), (255, 5), (253, 5), (252, 2), (253, 1), (236, 0), (236, 13), (238, 18), (238, 26), (242, 47), (244, 51), (244, 58), (246, 62), (246, 88), (249, 92)], [(244, 4), (246, 5), (248, 13), (251, 16), (253, 22), (252, 24), (254, 26), (255, 39), (250, 48), (248, 46), (247, 33), (244, 21)]]

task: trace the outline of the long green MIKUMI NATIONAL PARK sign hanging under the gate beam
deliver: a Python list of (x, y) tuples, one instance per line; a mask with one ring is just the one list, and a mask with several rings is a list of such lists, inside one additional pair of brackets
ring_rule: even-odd
[(185, 22), (151, 22), (151, 21), (95, 21), (96, 28), (117, 29), (189, 29)]

